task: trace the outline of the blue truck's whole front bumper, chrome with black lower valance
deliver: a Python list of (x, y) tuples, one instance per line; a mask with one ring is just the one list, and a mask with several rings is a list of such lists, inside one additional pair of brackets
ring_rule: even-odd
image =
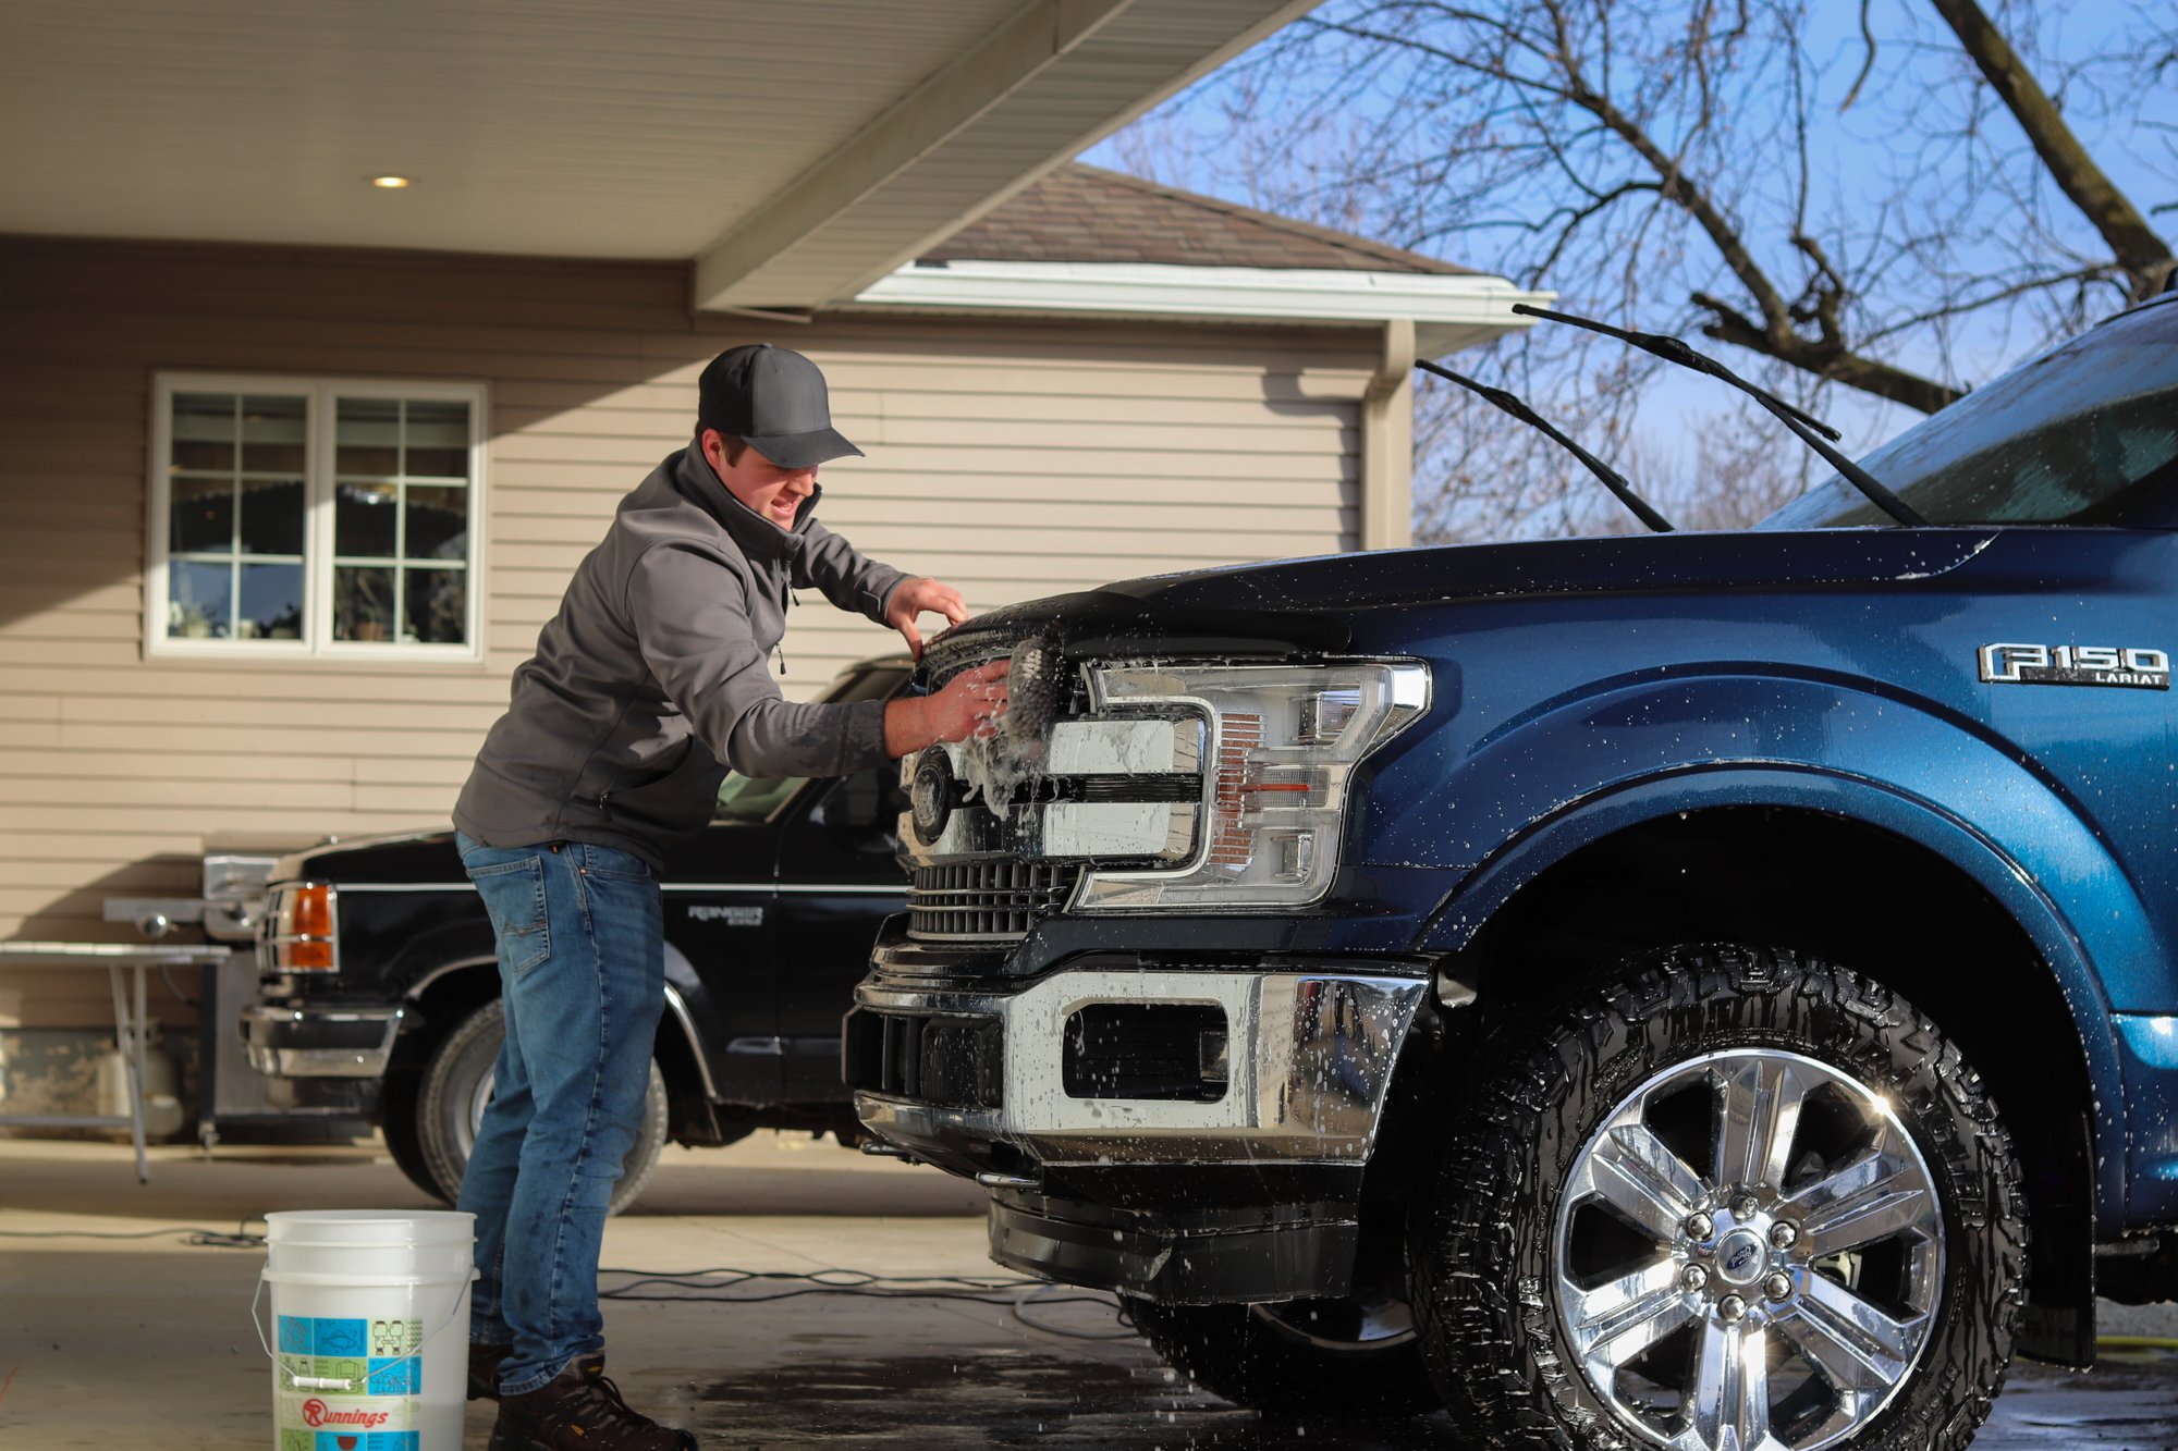
[[(993, 1187), (1008, 1268), (1161, 1303), (1339, 1296), (1427, 987), (1414, 959), (1085, 959), (984, 989), (880, 974), (847, 1015), (845, 1074), (876, 1137)], [(1222, 1011), (1224, 1092), (1122, 1098), (1069, 1072), (1072, 1024), (1106, 1004)]]

